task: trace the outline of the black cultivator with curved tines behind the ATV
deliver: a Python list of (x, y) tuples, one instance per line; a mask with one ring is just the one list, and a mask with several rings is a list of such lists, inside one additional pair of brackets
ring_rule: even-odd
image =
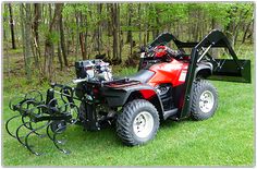
[[(61, 89), (56, 90), (54, 87)], [(54, 97), (54, 93), (60, 97)], [(19, 114), (7, 121), (7, 132), (35, 155), (42, 154), (36, 148), (39, 142), (35, 145), (35, 142), (33, 144), (30, 141), (35, 137), (48, 137), (59, 150), (69, 154), (69, 150), (62, 148), (65, 142), (58, 140), (58, 136), (78, 120), (78, 108), (72, 95), (71, 87), (54, 84), (48, 89), (45, 100), (39, 90), (32, 90), (23, 97), (14, 97), (10, 100), (9, 107)], [(20, 122), (16, 129), (12, 129), (14, 121)]]

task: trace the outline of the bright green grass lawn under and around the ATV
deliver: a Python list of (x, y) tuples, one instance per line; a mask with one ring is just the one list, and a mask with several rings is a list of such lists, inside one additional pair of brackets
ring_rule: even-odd
[[(253, 49), (250, 49), (253, 51)], [(11, 53), (11, 67), (17, 69), (19, 55)], [(99, 132), (83, 131), (73, 125), (66, 131), (65, 155), (56, 149), (49, 140), (41, 140), (40, 147), (47, 152), (40, 157), (26, 150), (5, 131), (5, 121), (14, 116), (9, 99), (29, 88), (46, 90), (48, 83), (37, 77), (26, 83), (24, 72), (3, 68), (2, 95), (2, 165), (11, 166), (255, 166), (255, 116), (254, 116), (254, 53), (252, 58), (252, 84), (212, 81), (219, 92), (219, 108), (206, 121), (164, 121), (155, 140), (144, 146), (127, 147), (115, 135), (114, 128)], [(7, 60), (3, 59), (7, 63)], [(7, 67), (7, 64), (4, 64)], [(113, 68), (119, 75), (136, 72), (135, 68)], [(57, 73), (57, 82), (74, 77), (73, 69)], [(17, 125), (17, 123), (13, 124)]]

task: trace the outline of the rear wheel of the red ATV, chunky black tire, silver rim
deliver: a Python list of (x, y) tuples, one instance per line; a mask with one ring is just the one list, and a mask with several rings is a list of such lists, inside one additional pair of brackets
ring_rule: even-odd
[(123, 107), (117, 119), (117, 133), (126, 145), (140, 145), (152, 140), (159, 129), (159, 114), (155, 106), (135, 99)]

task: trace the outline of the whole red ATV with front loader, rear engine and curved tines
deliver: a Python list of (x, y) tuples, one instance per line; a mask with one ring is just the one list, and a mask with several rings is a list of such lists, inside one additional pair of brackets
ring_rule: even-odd
[[(168, 47), (170, 41), (178, 50)], [(186, 48), (192, 49), (191, 53), (185, 52)], [(227, 48), (233, 59), (215, 59), (208, 53), (210, 48)], [(106, 124), (115, 123), (117, 133), (125, 144), (140, 145), (155, 137), (162, 120), (187, 117), (205, 120), (213, 116), (218, 94), (207, 79), (250, 82), (250, 61), (238, 60), (228, 38), (219, 31), (212, 31), (200, 43), (182, 43), (169, 33), (161, 34), (142, 49), (139, 71), (133, 76), (113, 79), (109, 64), (101, 60), (79, 61), (75, 69), (74, 88), (52, 84), (46, 101), (41, 97), (39, 101), (25, 97), (11, 108), (19, 110), (22, 117), (29, 117), (28, 123), (48, 120), (47, 132), (51, 128), (53, 135), (73, 123), (87, 130), (100, 130)], [(57, 87), (61, 89), (57, 90)], [(60, 94), (62, 100), (57, 100), (54, 94)], [(79, 108), (75, 99), (79, 100)], [(62, 108), (60, 102), (64, 102)], [(36, 106), (36, 113), (35, 109), (23, 109), (23, 105)], [(76, 109), (77, 118), (72, 117), (71, 109)], [(37, 131), (28, 128), (30, 134)], [(66, 153), (58, 146), (54, 136), (50, 138)], [(36, 154), (27, 142), (20, 143)]]

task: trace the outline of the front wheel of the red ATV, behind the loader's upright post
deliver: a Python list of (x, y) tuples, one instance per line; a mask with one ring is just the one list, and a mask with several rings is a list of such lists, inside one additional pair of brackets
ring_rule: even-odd
[(218, 107), (218, 94), (215, 86), (205, 80), (197, 80), (193, 85), (191, 114), (195, 120), (212, 117)]

